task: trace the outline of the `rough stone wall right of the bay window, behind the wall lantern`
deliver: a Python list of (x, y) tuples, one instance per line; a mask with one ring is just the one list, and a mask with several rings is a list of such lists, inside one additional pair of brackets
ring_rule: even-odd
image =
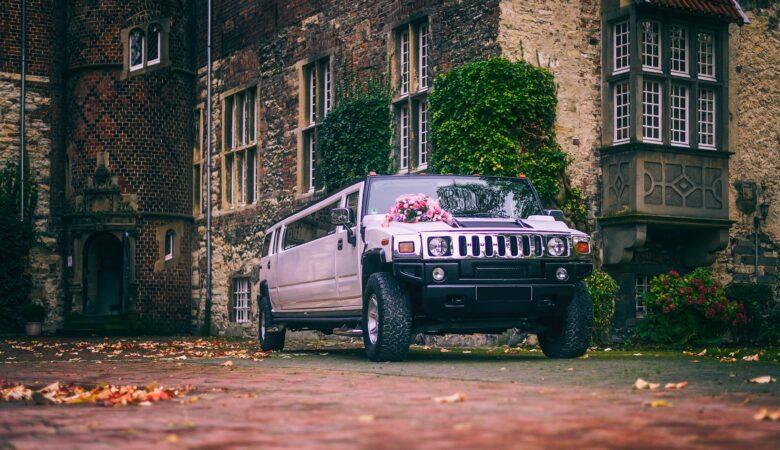
[[(729, 161), (730, 213), (734, 225), (728, 248), (715, 265), (725, 280), (759, 281), (775, 286), (780, 298), (780, 4), (747, 2), (751, 23), (732, 26), (730, 111), (732, 148)], [(756, 229), (753, 204), (739, 200), (739, 183), (754, 183), (769, 203), (769, 214)], [(759, 198), (760, 202), (760, 198)]]

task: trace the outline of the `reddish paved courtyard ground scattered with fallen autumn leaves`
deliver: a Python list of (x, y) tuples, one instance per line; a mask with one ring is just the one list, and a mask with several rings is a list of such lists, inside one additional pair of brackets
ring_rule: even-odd
[(0, 449), (777, 448), (776, 350), (0, 341)]

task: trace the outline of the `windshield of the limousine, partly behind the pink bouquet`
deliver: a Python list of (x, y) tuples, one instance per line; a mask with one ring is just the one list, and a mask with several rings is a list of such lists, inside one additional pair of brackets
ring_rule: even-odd
[(414, 176), (372, 179), (366, 214), (385, 214), (405, 194), (439, 200), (455, 217), (526, 218), (542, 214), (527, 180), (498, 177)]

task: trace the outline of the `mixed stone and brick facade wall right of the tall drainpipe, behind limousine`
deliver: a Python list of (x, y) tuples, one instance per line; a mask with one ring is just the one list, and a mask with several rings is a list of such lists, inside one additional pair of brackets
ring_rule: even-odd
[[(205, 11), (203, 2), (199, 3)], [(221, 1), (214, 6), (214, 103), (211, 136), (221, 136), (221, 92), (258, 83), (258, 146), (260, 198), (256, 206), (220, 210), (221, 143), (213, 140), (211, 174), (214, 210), (213, 315), (214, 332), (256, 335), (256, 322), (228, 322), (230, 281), (252, 277), (253, 303), (257, 294), (258, 250), (263, 229), (274, 218), (299, 204), (296, 200), (299, 61), (330, 52), (335, 83), (345, 67), (361, 76), (386, 74), (387, 39), (402, 21), (427, 15), (431, 24), (433, 75), (472, 59), (496, 56), (499, 46), (498, 1), (261, 1), (248, 4)], [(203, 43), (205, 22), (198, 23)], [(464, 32), (468, 30), (468, 32)], [(205, 101), (205, 60), (199, 55), (197, 97)], [(205, 228), (198, 220), (193, 253), (194, 326), (203, 323), (205, 305)], [(253, 304), (257, 318), (257, 305)]]

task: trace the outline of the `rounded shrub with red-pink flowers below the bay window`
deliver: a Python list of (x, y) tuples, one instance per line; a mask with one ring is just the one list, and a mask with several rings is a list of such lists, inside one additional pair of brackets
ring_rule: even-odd
[(727, 299), (723, 286), (707, 269), (684, 276), (671, 271), (653, 278), (645, 305), (648, 318), (637, 335), (655, 343), (713, 340), (747, 323), (745, 306)]

